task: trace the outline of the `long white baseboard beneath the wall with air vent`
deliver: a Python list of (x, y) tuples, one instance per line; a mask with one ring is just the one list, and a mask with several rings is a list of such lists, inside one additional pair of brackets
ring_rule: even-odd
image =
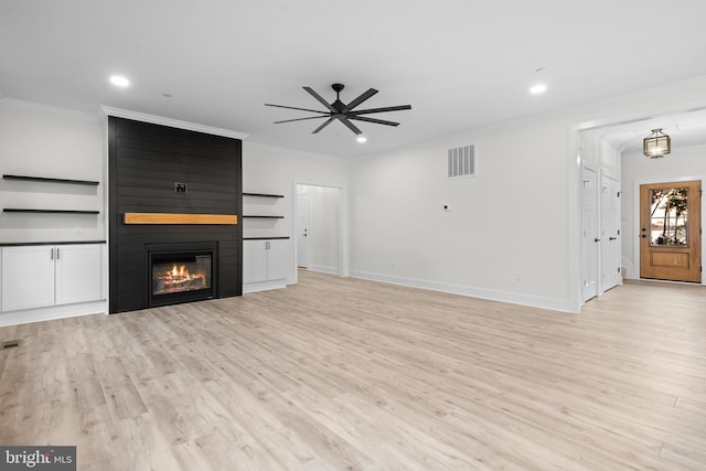
[(573, 303), (567, 299), (553, 299), (536, 296), (517, 295), (514, 292), (440, 283), (436, 281), (418, 280), (414, 278), (394, 277), (389, 275), (372, 274), (368, 271), (352, 270), (351, 277), (371, 281), (381, 281), (391, 285), (428, 289), (431, 291), (448, 292), (450, 295), (468, 296), (469, 298), (480, 298), (491, 301), (509, 302), (511, 304), (527, 306), (531, 308), (549, 309), (552, 311), (567, 312), (571, 314), (576, 314), (579, 312), (579, 310), (574, 307)]

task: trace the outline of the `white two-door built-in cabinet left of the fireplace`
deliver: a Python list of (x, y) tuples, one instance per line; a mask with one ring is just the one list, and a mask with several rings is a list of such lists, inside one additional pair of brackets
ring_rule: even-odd
[(2, 311), (98, 301), (103, 244), (2, 247)]

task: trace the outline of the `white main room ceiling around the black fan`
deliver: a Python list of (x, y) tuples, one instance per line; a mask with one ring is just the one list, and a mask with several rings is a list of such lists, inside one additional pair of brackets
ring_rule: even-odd
[[(1, 0), (0, 92), (354, 157), (706, 76), (704, 19), (704, 0)], [(532, 96), (538, 67), (549, 89)], [(343, 101), (373, 87), (366, 107), (413, 109), (371, 115), (400, 126), (361, 122), (365, 144), (272, 124), (309, 115), (265, 103), (318, 109), (301, 87), (333, 100), (334, 82)]]

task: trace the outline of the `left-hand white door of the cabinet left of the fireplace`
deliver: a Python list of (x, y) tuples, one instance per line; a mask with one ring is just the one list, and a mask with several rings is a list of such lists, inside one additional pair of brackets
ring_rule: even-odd
[(2, 247), (2, 310), (54, 304), (54, 247)]

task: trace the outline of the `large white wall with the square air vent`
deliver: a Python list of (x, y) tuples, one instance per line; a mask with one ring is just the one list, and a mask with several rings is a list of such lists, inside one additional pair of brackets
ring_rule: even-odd
[[(351, 274), (576, 312), (577, 131), (706, 106), (704, 96), (703, 79), (672, 84), (354, 161)], [(478, 176), (446, 180), (446, 150), (466, 143)]]

